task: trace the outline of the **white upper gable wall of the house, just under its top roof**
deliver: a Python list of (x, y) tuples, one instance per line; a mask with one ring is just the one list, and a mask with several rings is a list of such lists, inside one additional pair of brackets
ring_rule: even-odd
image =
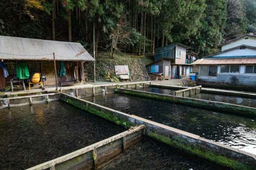
[[(245, 39), (245, 38), (248, 38), (248, 39)], [(227, 49), (230, 49), (230, 48), (234, 48), (234, 47), (237, 47), (239, 45), (249, 45), (249, 46), (256, 47), (256, 38), (249, 37), (249, 36), (243, 37), (240, 40), (237, 40), (237, 41), (234, 41), (232, 43), (223, 45), (221, 47), (221, 51), (224, 51), (224, 50), (227, 50)]]

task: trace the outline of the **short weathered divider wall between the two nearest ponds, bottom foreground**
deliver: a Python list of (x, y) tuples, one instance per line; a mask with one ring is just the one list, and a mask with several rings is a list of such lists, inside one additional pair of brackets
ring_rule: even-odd
[(144, 125), (135, 126), (125, 132), (27, 170), (100, 169), (105, 163), (124, 153), (129, 147), (138, 142), (144, 133)]

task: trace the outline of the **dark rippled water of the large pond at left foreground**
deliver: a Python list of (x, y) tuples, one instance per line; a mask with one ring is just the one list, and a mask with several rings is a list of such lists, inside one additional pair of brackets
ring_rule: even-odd
[(27, 169), (124, 131), (61, 101), (0, 109), (0, 169)]

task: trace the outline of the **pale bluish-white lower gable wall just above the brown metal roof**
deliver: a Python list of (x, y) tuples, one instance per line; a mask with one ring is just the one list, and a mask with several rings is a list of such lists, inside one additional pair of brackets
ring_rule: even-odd
[(246, 56), (246, 55), (256, 55), (256, 49), (246, 47), (246, 49), (240, 50), (239, 48), (236, 48), (234, 50), (223, 52), (221, 54), (213, 55), (213, 57)]

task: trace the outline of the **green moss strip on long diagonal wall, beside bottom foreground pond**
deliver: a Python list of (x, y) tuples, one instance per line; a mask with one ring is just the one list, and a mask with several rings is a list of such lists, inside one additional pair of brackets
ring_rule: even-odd
[(167, 145), (177, 147), (182, 150), (186, 150), (188, 153), (195, 154), (198, 157), (202, 157), (204, 159), (210, 160), (211, 162), (220, 164), (222, 166), (230, 167), (234, 170), (253, 170), (252, 166), (243, 164), (241, 162), (237, 162), (235, 160), (228, 159), (224, 156), (221, 156), (219, 154), (211, 153), (210, 151), (202, 150), (199, 147), (191, 146), (188, 144), (184, 144), (183, 141), (172, 140), (167, 136), (159, 135), (154, 132), (147, 132), (147, 136), (150, 136), (160, 142), (163, 142)]

